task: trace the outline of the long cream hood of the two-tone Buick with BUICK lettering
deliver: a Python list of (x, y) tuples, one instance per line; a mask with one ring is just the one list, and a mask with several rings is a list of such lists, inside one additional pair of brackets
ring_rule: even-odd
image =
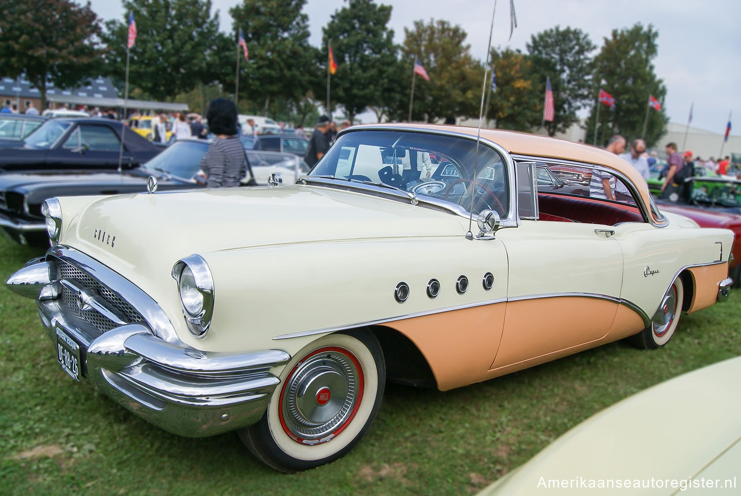
[(169, 271), (177, 259), (194, 253), (353, 239), (463, 236), (468, 225), (460, 216), (421, 204), (316, 186), (60, 201), (65, 222), (62, 244), (113, 270), (126, 272), (123, 266), (142, 274), (162, 271), (163, 266)]

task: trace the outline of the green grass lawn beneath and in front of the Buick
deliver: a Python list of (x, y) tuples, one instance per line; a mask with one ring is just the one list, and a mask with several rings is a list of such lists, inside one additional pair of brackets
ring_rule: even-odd
[[(41, 254), (0, 238), (2, 281)], [(682, 316), (671, 343), (657, 351), (612, 343), (444, 393), (389, 385), (375, 423), (353, 452), (329, 466), (286, 475), (255, 460), (235, 434), (176, 437), (139, 420), (90, 383), (73, 383), (56, 363), (35, 302), (3, 284), (0, 493), (477, 492), (605, 406), (740, 355), (739, 297), (737, 291), (725, 305)]]

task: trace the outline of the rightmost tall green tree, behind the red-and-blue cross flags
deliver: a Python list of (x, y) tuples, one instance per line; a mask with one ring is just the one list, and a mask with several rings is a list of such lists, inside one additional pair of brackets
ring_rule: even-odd
[[(619, 133), (628, 140), (639, 138), (643, 130), (648, 96), (662, 101), (666, 87), (654, 73), (651, 61), (657, 56), (659, 32), (651, 24), (643, 27), (635, 24), (631, 28), (613, 30), (610, 39), (605, 38), (594, 59), (592, 98), (595, 106), (587, 121), (587, 142), (594, 142), (594, 119), (597, 109), (599, 88), (615, 98), (615, 108), (608, 110), (602, 105), (599, 113), (597, 143), (604, 145), (610, 136)], [(608, 110), (608, 111), (605, 111)], [(649, 113), (646, 144), (652, 146), (665, 133), (668, 116), (665, 110)]]

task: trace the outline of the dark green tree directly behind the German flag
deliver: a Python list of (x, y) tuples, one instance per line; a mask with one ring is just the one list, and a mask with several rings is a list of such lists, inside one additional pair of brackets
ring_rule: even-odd
[[(350, 122), (366, 108), (386, 108), (397, 97), (399, 47), (393, 43), (389, 19), (388, 5), (376, 5), (372, 0), (348, 0), (322, 28), (324, 73), (327, 73), (330, 42), (337, 63), (337, 72), (330, 80), (330, 97), (345, 108)], [(326, 91), (320, 83), (314, 93), (322, 95), (322, 90)]]

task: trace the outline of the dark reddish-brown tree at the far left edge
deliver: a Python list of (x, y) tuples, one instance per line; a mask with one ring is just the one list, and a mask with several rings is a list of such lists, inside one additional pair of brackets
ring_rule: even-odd
[(47, 83), (76, 87), (100, 75), (98, 16), (90, 2), (70, 0), (0, 2), (0, 60), (5, 76), (22, 74), (39, 89), (46, 107)]

